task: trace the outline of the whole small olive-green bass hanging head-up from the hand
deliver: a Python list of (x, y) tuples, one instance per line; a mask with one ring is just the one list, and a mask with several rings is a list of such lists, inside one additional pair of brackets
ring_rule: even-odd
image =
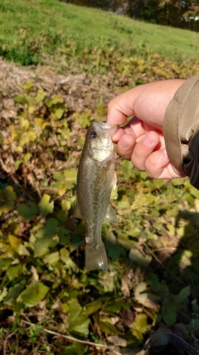
[(116, 187), (115, 150), (112, 138), (118, 126), (93, 119), (79, 160), (76, 205), (72, 218), (84, 220), (86, 229), (86, 270), (108, 270), (106, 249), (101, 239), (103, 221), (118, 224), (110, 204)]

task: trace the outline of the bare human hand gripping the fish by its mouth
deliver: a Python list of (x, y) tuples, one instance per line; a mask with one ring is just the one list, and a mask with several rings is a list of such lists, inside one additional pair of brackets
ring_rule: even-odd
[[(125, 124), (113, 141), (118, 152), (135, 168), (151, 178), (171, 179), (185, 176), (166, 154), (163, 136), (164, 114), (169, 102), (185, 80), (164, 80), (140, 85), (120, 94), (108, 104), (108, 123)], [(177, 128), (176, 128), (177, 129)]]

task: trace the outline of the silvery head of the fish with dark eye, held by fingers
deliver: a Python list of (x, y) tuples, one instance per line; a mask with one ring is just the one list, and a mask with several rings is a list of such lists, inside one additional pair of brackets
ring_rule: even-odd
[(109, 160), (114, 152), (112, 138), (118, 131), (117, 125), (110, 125), (93, 119), (86, 138), (89, 139), (91, 158), (98, 162)]

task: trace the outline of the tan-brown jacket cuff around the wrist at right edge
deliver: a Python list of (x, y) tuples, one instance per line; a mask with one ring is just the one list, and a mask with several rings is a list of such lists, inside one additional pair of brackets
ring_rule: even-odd
[(169, 103), (163, 133), (169, 160), (199, 190), (199, 75), (184, 82)]

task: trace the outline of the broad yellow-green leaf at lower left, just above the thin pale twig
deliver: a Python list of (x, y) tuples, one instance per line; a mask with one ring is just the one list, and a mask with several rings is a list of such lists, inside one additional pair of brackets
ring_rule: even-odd
[(49, 290), (50, 288), (43, 283), (31, 283), (23, 293), (21, 293), (21, 298), (26, 307), (34, 307), (43, 300)]

